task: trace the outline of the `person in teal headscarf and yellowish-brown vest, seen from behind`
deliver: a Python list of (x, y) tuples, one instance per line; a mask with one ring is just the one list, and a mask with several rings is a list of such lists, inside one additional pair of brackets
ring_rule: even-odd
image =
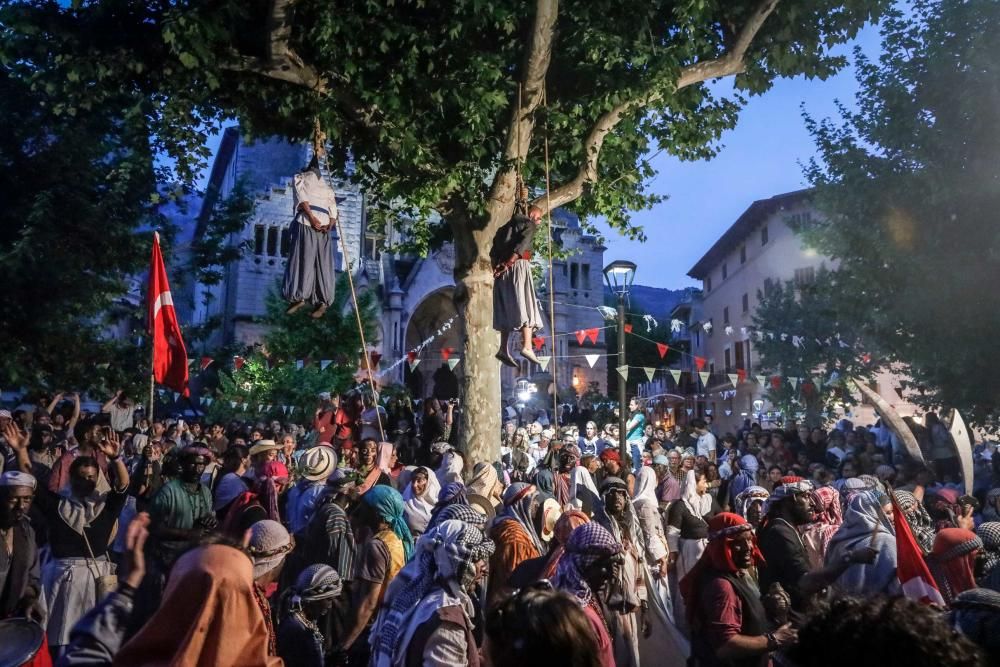
[(406, 525), (403, 497), (382, 484), (361, 496), (354, 522), (370, 534), (358, 553), (354, 599), (345, 634), (335, 650), (356, 664), (368, 664), (368, 633), (389, 584), (410, 559), (413, 537)]

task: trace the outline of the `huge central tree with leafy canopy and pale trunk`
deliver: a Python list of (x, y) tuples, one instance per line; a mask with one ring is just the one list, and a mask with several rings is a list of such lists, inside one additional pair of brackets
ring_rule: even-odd
[[(543, 208), (602, 215), (633, 237), (655, 147), (711, 157), (746, 95), (826, 77), (833, 49), (887, 0), (456, 0), (340, 3), (8, 2), (6, 62), (64, 113), (141, 93), (155, 149), (190, 179), (213, 122), (307, 138), (318, 119), (335, 166), (353, 159), (373, 216), (409, 220), (424, 247), (455, 244), (463, 316), (462, 440), (494, 460), (500, 430), (488, 251), (520, 171)], [(735, 77), (719, 97), (707, 81)], [(543, 138), (548, 140), (551, 196)]]

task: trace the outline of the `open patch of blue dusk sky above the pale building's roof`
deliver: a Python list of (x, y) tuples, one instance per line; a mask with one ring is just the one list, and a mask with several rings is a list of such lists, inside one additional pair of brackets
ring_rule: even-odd
[[(879, 53), (875, 26), (843, 49), (853, 65), (851, 49), (859, 45), (869, 57)], [(731, 90), (722, 82), (721, 90)], [(750, 98), (736, 129), (723, 135), (723, 149), (707, 162), (680, 162), (660, 156), (652, 190), (669, 199), (652, 211), (635, 215), (646, 243), (630, 241), (598, 225), (608, 241), (606, 261), (631, 259), (638, 265), (636, 284), (671, 289), (695, 285), (688, 269), (756, 199), (807, 187), (801, 164), (815, 152), (806, 132), (801, 105), (810, 115), (836, 117), (835, 100), (854, 106), (857, 91), (853, 66), (826, 81), (804, 77), (781, 79), (759, 97)]]

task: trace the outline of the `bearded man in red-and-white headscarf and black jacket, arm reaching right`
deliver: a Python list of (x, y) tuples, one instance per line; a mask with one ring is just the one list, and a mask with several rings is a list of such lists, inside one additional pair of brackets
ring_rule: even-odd
[(809, 555), (799, 534), (799, 526), (812, 521), (812, 484), (797, 477), (784, 477), (768, 499), (767, 515), (760, 530), (760, 550), (765, 564), (760, 569), (760, 588), (770, 590), (777, 582), (788, 591), (792, 618), (806, 609), (809, 596), (834, 581), (855, 563), (871, 564), (878, 552), (858, 547), (838, 562), (810, 571)]

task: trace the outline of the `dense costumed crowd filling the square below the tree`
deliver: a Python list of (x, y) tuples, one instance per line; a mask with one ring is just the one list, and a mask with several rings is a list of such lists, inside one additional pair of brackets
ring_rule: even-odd
[[(993, 445), (965, 495), (931, 415), (916, 461), (881, 424), (630, 408), (624, 438), (512, 419), (495, 461), (434, 399), (321, 394), (304, 425), (151, 421), (121, 392), (0, 410), (0, 633), (43, 628), (34, 665), (1000, 664)], [(895, 512), (943, 605), (901, 586)]]

